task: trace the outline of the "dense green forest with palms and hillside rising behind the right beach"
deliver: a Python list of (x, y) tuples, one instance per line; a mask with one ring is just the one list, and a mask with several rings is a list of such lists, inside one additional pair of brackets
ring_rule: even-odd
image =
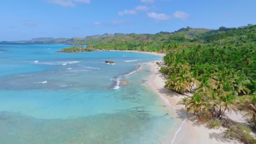
[[(166, 52), (160, 72), (167, 77), (165, 87), (178, 93), (188, 112), (210, 127), (223, 125), (226, 136), (255, 143), (249, 130), (232, 122), (226, 112), (246, 111), (256, 128), (256, 26), (220, 27), (195, 37), (188, 43), (163, 47)], [(246, 132), (247, 131), (247, 132)]]

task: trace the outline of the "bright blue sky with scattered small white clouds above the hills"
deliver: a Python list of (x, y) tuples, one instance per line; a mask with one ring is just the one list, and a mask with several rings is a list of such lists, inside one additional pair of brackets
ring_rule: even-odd
[(256, 23), (255, 0), (8, 0), (0, 2), (0, 40), (104, 33), (173, 32)]

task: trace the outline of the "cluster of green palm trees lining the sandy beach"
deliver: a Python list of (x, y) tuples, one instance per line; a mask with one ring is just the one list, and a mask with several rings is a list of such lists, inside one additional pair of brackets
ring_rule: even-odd
[(192, 95), (180, 102), (199, 118), (210, 113), (212, 118), (222, 119), (226, 112), (245, 110), (256, 127), (256, 96), (248, 88), (252, 81), (241, 70), (252, 71), (253, 65), (241, 63), (242, 59), (237, 64), (236, 57), (242, 54), (227, 57), (232, 51), (236, 50), (211, 46), (170, 51), (164, 57), (167, 67), (160, 69), (167, 76), (165, 88), (182, 94), (190, 92)]

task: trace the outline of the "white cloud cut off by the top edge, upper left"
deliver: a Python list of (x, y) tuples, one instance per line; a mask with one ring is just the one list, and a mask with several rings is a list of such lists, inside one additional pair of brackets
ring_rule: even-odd
[(62, 7), (75, 7), (74, 2), (90, 3), (90, 0), (46, 0), (47, 2), (59, 4)]

